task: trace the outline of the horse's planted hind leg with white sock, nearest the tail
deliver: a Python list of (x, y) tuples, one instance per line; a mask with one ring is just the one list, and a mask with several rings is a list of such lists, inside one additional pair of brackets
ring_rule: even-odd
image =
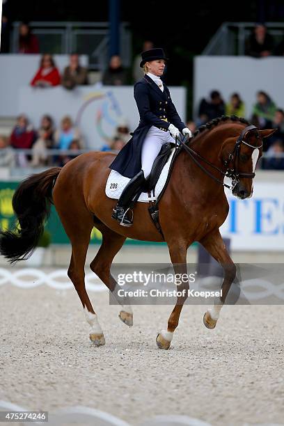
[(95, 346), (104, 345), (104, 333), (98, 322), (97, 314), (90, 303), (85, 287), (85, 262), (90, 232), (93, 228), (93, 215), (82, 205), (70, 205), (56, 203), (56, 210), (61, 218), (66, 234), (72, 244), (72, 255), (68, 268), (68, 276), (79, 295), (84, 308), (86, 320), (90, 325), (90, 340)]

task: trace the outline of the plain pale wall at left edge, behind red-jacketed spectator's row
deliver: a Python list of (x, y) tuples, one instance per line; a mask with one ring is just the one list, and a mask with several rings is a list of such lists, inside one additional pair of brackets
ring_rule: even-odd
[[(29, 86), (39, 68), (41, 55), (0, 55), (0, 116), (15, 116), (18, 111), (19, 88)], [(69, 55), (54, 55), (58, 70), (62, 73), (69, 63)], [(88, 56), (80, 56), (81, 65), (88, 65)]]

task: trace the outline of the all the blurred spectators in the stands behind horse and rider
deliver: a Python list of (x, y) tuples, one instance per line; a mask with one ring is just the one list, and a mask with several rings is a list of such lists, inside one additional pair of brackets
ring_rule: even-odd
[[(8, 30), (8, 19), (3, 14), (1, 52), (8, 52), (9, 49), (6, 37)], [(18, 46), (20, 54), (38, 54), (40, 52), (38, 38), (32, 33), (27, 22), (19, 25)], [(153, 42), (145, 40), (141, 46), (141, 52), (152, 49), (152, 47), (155, 47)], [(255, 58), (269, 55), (283, 56), (284, 37), (281, 42), (276, 43), (264, 24), (256, 24), (246, 40), (246, 55)], [(123, 86), (138, 81), (143, 77), (140, 61), (139, 52), (134, 58), (132, 72), (130, 72), (123, 66), (120, 56), (112, 56), (107, 69), (102, 74), (102, 84)], [(88, 68), (81, 65), (79, 55), (74, 52), (70, 54), (69, 64), (61, 74), (53, 56), (43, 54), (38, 70), (35, 70), (35, 74), (31, 76), (30, 84), (35, 88), (61, 85), (67, 90), (72, 90), (77, 85), (89, 84)], [(200, 100), (198, 117), (196, 120), (189, 120), (187, 127), (194, 132), (198, 126), (224, 114), (245, 117), (260, 129), (274, 127), (277, 131), (264, 146), (267, 158), (262, 161), (262, 168), (284, 169), (284, 111), (282, 106), (276, 105), (269, 94), (259, 91), (256, 94), (253, 111), (250, 112), (246, 111), (246, 105), (239, 93), (232, 93), (228, 102), (225, 102), (218, 90), (212, 90), (207, 99)], [(101, 150), (118, 152), (130, 137), (127, 120), (123, 119), (110, 138), (104, 137), (105, 143)], [(29, 155), (22, 152), (24, 149), (29, 150)], [(0, 166), (63, 166), (70, 159), (79, 155), (83, 149), (84, 140), (80, 129), (72, 123), (70, 117), (63, 117), (60, 127), (56, 129), (51, 116), (42, 116), (38, 128), (33, 128), (29, 119), (21, 115), (17, 118), (17, 124), (9, 138), (0, 135)]]

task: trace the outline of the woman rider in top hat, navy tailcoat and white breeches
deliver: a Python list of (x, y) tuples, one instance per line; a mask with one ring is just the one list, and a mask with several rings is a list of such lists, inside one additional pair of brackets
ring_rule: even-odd
[(140, 114), (139, 126), (132, 139), (118, 153), (109, 166), (123, 176), (131, 178), (123, 189), (112, 217), (122, 226), (132, 226), (127, 216), (129, 205), (148, 178), (161, 145), (175, 142), (173, 138), (191, 132), (180, 119), (171, 100), (170, 91), (160, 77), (166, 66), (164, 50), (160, 48), (142, 52), (140, 63), (145, 75), (134, 86), (134, 99)]

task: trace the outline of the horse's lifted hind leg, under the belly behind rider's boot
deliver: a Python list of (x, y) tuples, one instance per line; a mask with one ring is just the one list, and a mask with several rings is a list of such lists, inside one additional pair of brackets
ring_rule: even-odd
[[(114, 256), (120, 251), (120, 248), (125, 242), (125, 237), (113, 232), (113, 230), (107, 228), (104, 223), (96, 221), (95, 227), (102, 232), (102, 245), (100, 250), (97, 252), (95, 259), (90, 263), (90, 269), (107, 285), (113, 296), (116, 298), (119, 304), (121, 299), (117, 297), (118, 285), (116, 280), (111, 275), (111, 264)], [(133, 325), (133, 312), (129, 304), (122, 305), (123, 309), (120, 310), (119, 317), (126, 325)]]

